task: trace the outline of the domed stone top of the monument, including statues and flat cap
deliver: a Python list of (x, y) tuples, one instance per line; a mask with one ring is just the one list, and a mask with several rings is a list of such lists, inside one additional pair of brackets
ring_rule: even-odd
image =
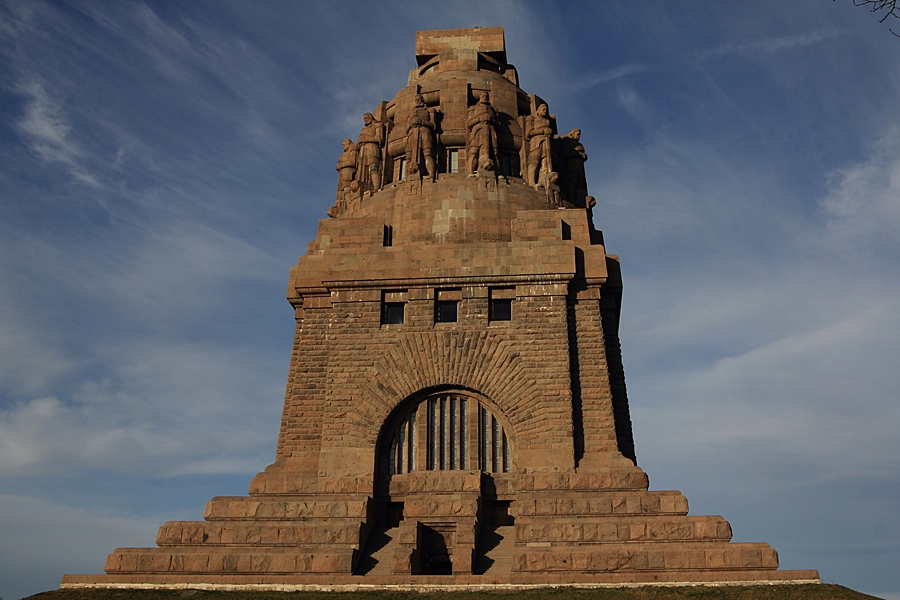
[(517, 211), (590, 210), (581, 131), (560, 135), (519, 87), (502, 27), (419, 31), (416, 65), (343, 141), (330, 217), (383, 218), (415, 243), (509, 239)]

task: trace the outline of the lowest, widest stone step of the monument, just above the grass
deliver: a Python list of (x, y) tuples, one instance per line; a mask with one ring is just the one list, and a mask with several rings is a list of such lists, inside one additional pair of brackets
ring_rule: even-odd
[(529, 574), (499, 577), (479, 575), (407, 575), (358, 577), (352, 575), (65, 575), (60, 589), (198, 589), (222, 591), (506, 591), (551, 587), (578, 589), (640, 586), (744, 586), (805, 585), (822, 583), (815, 570), (707, 571)]

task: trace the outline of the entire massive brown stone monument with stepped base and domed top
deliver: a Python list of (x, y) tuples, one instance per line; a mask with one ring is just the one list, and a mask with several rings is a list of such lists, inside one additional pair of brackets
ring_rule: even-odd
[(344, 140), (291, 270), (275, 462), (63, 585), (818, 581), (648, 490), (587, 154), (503, 30), (420, 31), (416, 62)]

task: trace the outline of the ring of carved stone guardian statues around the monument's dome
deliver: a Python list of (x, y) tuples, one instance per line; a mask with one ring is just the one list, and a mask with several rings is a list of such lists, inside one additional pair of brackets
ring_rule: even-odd
[[(491, 103), (488, 91), (472, 92), (477, 95), (477, 100), (466, 109), (464, 140), (460, 137), (452, 138), (453, 142), (448, 150), (455, 147), (458, 148), (454, 150), (456, 155), (462, 154), (463, 148), (458, 144), (464, 141), (465, 160), (459, 161), (459, 167), (464, 168), (469, 177), (477, 178), (481, 189), (496, 190), (499, 175), (504, 176), (500, 178), (503, 181), (520, 176), (518, 165), (522, 164), (524, 169), (521, 177), (524, 183), (544, 191), (548, 203), (556, 206), (565, 206), (566, 202), (580, 207), (593, 206), (593, 198), (587, 195), (584, 171), (587, 153), (581, 143), (580, 129), (573, 129), (562, 136), (556, 134), (555, 117), (550, 114), (547, 104), (533, 95), (530, 96), (530, 114), (514, 121), (509, 115), (505, 119), (501, 118), (501, 114)], [(434, 103), (433, 93), (431, 99)], [(440, 103), (439, 97), (437, 103)], [(389, 112), (385, 109), (385, 104), (382, 103), (375, 111), (380, 118), (370, 112), (363, 115), (363, 127), (355, 144), (349, 139), (342, 142), (343, 152), (336, 166), (339, 173), (337, 201), (329, 209), (329, 216), (339, 216), (352, 209), (352, 206), (358, 206), (367, 194), (381, 190), (386, 177), (388, 182), (396, 177), (401, 181), (437, 180), (438, 153), (442, 146), (440, 108), (429, 107), (422, 93), (412, 96), (406, 109), (394, 108), (391, 109), (394, 112)], [(396, 114), (398, 112), (400, 114)], [(396, 132), (397, 135), (391, 132), (396, 127), (395, 117), (402, 119), (404, 116), (405, 138), (399, 138), (401, 132)], [(519, 133), (515, 135), (508, 130), (508, 125), (503, 126), (503, 123), (511, 121), (519, 124), (516, 129)], [(516, 142), (517, 147), (521, 146), (518, 157), (512, 147), (501, 149), (498, 143), (501, 129), (505, 139), (522, 140), (521, 144)], [(402, 145), (398, 147), (395, 141)], [(510, 144), (509, 141), (504, 143)], [(393, 175), (391, 172), (386, 175), (386, 166), (395, 164), (393, 161), (399, 158), (398, 148), (403, 153), (400, 160), (404, 161), (405, 169), (401, 166), (399, 175), (398, 171), (393, 171)], [(501, 155), (505, 162), (501, 160)], [(449, 157), (450, 152), (446, 156), (448, 171)], [(453, 172), (456, 172), (456, 164), (454, 163)]]

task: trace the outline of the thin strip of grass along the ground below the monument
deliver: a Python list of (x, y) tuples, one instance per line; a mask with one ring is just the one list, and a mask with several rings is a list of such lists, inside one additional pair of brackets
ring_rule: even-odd
[(194, 590), (54, 590), (26, 600), (864, 600), (839, 585), (640, 587), (598, 590), (548, 588), (521, 592), (218, 592)]

